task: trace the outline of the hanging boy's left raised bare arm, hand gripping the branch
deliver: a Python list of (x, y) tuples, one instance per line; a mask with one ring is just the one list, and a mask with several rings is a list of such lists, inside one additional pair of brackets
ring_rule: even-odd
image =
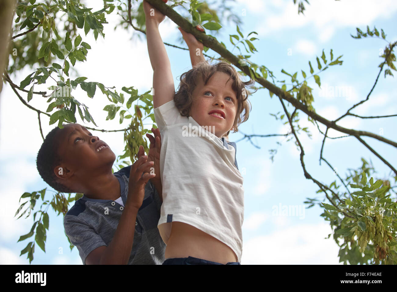
[(146, 1), (143, 1), (143, 10), (146, 16), (149, 58), (153, 68), (153, 106), (157, 108), (173, 100), (175, 86), (170, 60), (158, 30), (158, 25), (164, 20), (165, 16)]

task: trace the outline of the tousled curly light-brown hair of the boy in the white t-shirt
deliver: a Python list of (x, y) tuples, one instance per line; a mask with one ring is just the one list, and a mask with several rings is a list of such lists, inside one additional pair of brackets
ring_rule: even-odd
[[(238, 126), (248, 120), (249, 112), (251, 111), (251, 102), (248, 100), (248, 96), (256, 92), (257, 89), (254, 87), (254, 80), (251, 78), (249, 81), (241, 80), (241, 75), (233, 66), (226, 62), (221, 61), (211, 65), (206, 61), (202, 61), (196, 64), (191, 70), (183, 73), (174, 96), (175, 106), (182, 116), (189, 116), (193, 102), (192, 93), (197, 86), (197, 78), (201, 75), (202, 81), (206, 85), (215, 72), (222, 72), (229, 75), (230, 78), (227, 81), (233, 79), (231, 88), (237, 97), (237, 112), (232, 127), (233, 133), (235, 133), (238, 131)], [(224, 136), (229, 135), (229, 133), (230, 130)]]

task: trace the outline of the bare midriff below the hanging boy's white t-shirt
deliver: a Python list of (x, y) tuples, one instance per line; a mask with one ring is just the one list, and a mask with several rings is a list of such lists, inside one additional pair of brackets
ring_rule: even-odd
[(226, 264), (237, 262), (233, 249), (209, 234), (183, 222), (172, 222), (165, 258), (197, 257)]

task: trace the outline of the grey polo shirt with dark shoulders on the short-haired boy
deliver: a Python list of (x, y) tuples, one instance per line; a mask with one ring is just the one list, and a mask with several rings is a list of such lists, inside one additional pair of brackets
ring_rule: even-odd
[[(131, 166), (121, 168), (114, 175), (120, 183), (123, 204), (127, 200), (128, 180)], [(164, 262), (166, 244), (157, 229), (160, 219), (160, 197), (149, 181), (145, 186), (145, 197), (137, 214), (129, 265)], [(83, 264), (87, 255), (100, 246), (108, 246), (119, 224), (123, 206), (112, 200), (89, 199), (85, 195), (78, 199), (64, 216), (65, 233), (77, 247)]]

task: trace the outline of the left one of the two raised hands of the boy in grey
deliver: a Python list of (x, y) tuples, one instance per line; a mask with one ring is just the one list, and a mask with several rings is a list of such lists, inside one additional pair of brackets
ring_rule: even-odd
[[(142, 149), (141, 149), (142, 148)], [(143, 146), (139, 146), (139, 152), (145, 154)], [(139, 155), (138, 155), (139, 156)], [(150, 178), (154, 178), (156, 174), (144, 173), (150, 170), (153, 166), (153, 161), (147, 161), (148, 157), (146, 155), (139, 157), (137, 161), (131, 166), (129, 172), (129, 182), (128, 182), (128, 195), (127, 201), (133, 207), (139, 209), (142, 206), (143, 198), (145, 197), (145, 185)]]

